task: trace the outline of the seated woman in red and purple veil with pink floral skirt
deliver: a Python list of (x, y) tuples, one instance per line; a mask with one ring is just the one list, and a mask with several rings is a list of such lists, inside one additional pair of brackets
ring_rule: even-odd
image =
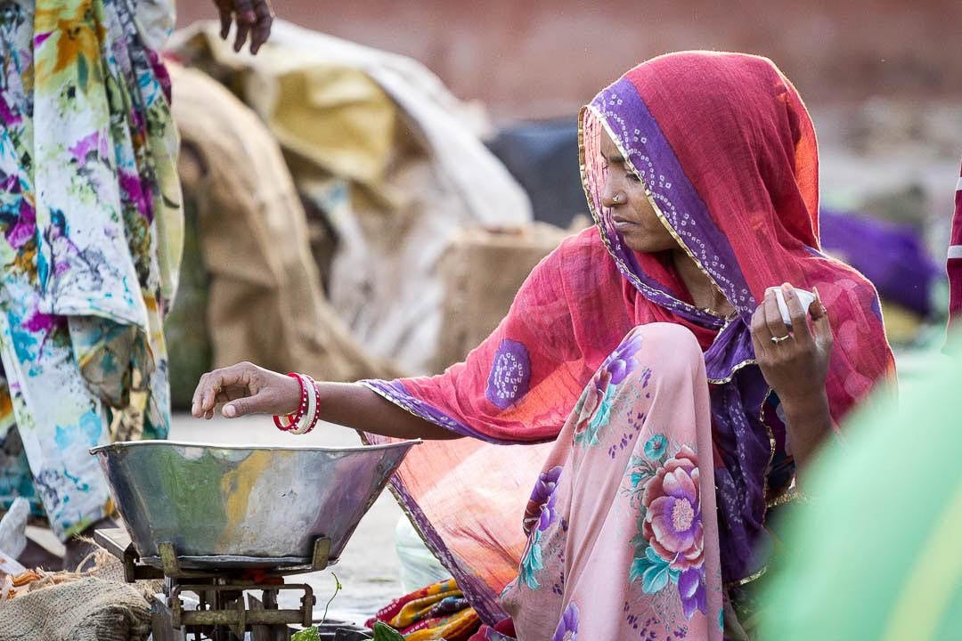
[[(656, 58), (580, 124), (595, 228), (535, 268), (465, 362), (317, 383), (320, 416), (374, 442), (439, 439), (394, 488), (498, 624), (476, 638), (738, 638), (768, 506), (894, 374), (878, 299), (819, 250), (815, 133), (772, 62)], [(819, 298), (803, 308), (788, 284)], [(193, 414), (300, 401), (294, 378), (241, 363), (203, 377)]]

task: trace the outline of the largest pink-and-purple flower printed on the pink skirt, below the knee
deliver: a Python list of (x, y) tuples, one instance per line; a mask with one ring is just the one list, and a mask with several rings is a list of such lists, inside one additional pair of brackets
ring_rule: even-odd
[(700, 567), (704, 559), (696, 454), (687, 446), (645, 484), (642, 535), (672, 570)]

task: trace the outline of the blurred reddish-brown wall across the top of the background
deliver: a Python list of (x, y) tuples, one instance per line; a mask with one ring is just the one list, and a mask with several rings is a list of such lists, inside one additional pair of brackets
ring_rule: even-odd
[[(962, 97), (958, 0), (274, 0), (279, 17), (412, 56), (501, 118), (573, 115), (677, 49), (770, 56), (810, 103)], [(181, 1), (181, 26), (215, 16)]]

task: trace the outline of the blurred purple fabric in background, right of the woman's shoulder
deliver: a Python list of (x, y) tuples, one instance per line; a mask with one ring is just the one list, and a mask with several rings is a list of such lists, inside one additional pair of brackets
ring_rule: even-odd
[(865, 274), (883, 299), (925, 317), (932, 312), (932, 287), (942, 270), (918, 232), (852, 211), (823, 208), (820, 216), (823, 252)]

